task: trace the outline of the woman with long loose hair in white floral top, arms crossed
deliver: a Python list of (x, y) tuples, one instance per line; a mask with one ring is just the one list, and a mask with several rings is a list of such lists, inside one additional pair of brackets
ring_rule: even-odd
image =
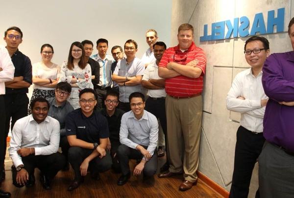
[(91, 66), (85, 60), (85, 50), (80, 42), (73, 42), (67, 62), (63, 62), (58, 82), (68, 82), (72, 92), (68, 101), (73, 109), (79, 108), (78, 94), (84, 88), (93, 88)]

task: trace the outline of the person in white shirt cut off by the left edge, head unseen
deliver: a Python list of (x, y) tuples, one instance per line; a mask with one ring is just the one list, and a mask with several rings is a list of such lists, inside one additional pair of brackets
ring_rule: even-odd
[[(13, 80), (14, 77), (14, 66), (9, 56), (7, 49), (4, 46), (0, 46), (0, 112), (5, 112), (4, 94), (5, 94), (5, 82)], [(5, 113), (0, 113), (0, 145), (4, 145), (6, 142), (5, 136)], [(4, 147), (0, 147), (0, 159), (4, 159), (3, 156), (6, 152)], [(0, 162), (3, 164), (4, 161)], [(0, 166), (0, 174), (2, 174), (3, 167)], [(2, 176), (0, 176), (1, 178)], [(10, 193), (0, 190), (0, 197), (9, 198)]]

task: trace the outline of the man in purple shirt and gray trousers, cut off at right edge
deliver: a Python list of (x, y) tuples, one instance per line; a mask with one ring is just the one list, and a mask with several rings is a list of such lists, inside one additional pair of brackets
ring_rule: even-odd
[[(288, 34), (294, 49), (294, 18)], [(270, 55), (262, 84), (270, 100), (264, 116), (266, 138), (259, 156), (261, 198), (294, 197), (294, 51)]]

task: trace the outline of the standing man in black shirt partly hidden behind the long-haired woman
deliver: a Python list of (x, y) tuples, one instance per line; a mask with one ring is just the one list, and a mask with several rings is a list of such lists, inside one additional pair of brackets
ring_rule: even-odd
[(97, 61), (94, 59), (90, 58), (93, 52), (93, 43), (92, 41), (89, 40), (84, 40), (82, 41), (82, 45), (85, 50), (85, 59), (86, 62), (91, 66), (91, 71), (92, 71), (92, 84), (95, 88), (99, 84), (99, 75), (100, 75), (100, 66)]

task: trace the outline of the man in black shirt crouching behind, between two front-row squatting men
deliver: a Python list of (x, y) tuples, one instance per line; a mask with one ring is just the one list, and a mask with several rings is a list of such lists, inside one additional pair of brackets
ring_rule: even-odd
[(121, 172), (121, 167), (117, 158), (117, 150), (121, 145), (120, 142), (120, 128), (121, 120), (124, 111), (117, 109), (119, 105), (119, 93), (115, 90), (110, 90), (106, 93), (106, 99), (104, 100), (106, 109), (100, 110), (108, 121), (109, 138), (107, 140), (107, 151), (110, 151), (112, 158), (112, 168), (116, 173)]

